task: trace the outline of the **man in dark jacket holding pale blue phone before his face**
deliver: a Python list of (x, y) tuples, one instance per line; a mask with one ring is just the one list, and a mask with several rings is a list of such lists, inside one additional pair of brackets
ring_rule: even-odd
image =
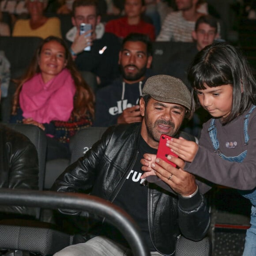
[[(93, 72), (98, 85), (103, 87), (119, 75), (120, 40), (114, 34), (105, 33), (100, 20), (96, 0), (75, 0), (72, 11), (75, 27), (68, 31), (67, 39), (72, 42), (70, 50), (78, 69)], [(90, 23), (92, 29), (79, 35), (81, 23)], [(86, 46), (91, 46), (90, 51), (84, 51)]]

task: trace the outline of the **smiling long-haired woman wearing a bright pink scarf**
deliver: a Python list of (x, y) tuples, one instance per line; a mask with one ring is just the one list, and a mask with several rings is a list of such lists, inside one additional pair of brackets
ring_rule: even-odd
[(14, 94), (11, 122), (45, 130), (47, 159), (68, 158), (70, 138), (92, 124), (94, 94), (64, 41), (46, 38)]

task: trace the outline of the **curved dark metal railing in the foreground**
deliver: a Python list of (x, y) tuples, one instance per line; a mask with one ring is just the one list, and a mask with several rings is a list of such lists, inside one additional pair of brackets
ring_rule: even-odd
[(133, 219), (120, 207), (96, 196), (80, 193), (0, 189), (0, 204), (88, 211), (105, 218), (120, 230), (128, 241), (133, 255), (150, 256), (147, 246), (141, 238), (139, 227)]

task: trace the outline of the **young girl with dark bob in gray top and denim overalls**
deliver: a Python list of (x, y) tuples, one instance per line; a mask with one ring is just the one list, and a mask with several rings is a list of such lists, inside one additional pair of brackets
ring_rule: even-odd
[(245, 56), (226, 43), (200, 51), (188, 79), (213, 118), (203, 124), (199, 145), (181, 138), (168, 145), (187, 161), (184, 170), (237, 188), (251, 201), (243, 256), (256, 255), (256, 81)]

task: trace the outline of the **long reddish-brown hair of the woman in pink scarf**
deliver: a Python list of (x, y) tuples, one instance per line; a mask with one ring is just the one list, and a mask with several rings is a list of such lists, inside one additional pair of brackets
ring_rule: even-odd
[(65, 59), (67, 60), (66, 68), (70, 71), (72, 78), (75, 83), (75, 96), (74, 96), (74, 109), (72, 113), (75, 117), (82, 117), (84, 115), (89, 114), (90, 117), (94, 117), (94, 101), (95, 96), (93, 91), (91, 90), (90, 86), (85, 82), (80, 72), (76, 69), (74, 61), (72, 60), (71, 53), (68, 50), (67, 45), (65, 44), (64, 40), (61, 38), (57, 38), (54, 36), (49, 36), (45, 38), (38, 46), (36, 53), (25, 73), (25, 75), (15, 82), (17, 83), (17, 89), (15, 90), (15, 94), (13, 96), (13, 105), (12, 105), (12, 114), (16, 113), (16, 109), (19, 105), (19, 94), (23, 84), (30, 80), (34, 75), (41, 72), (40, 67), (38, 65), (38, 61), (41, 54), (41, 49), (43, 45), (50, 41), (56, 41), (60, 45), (62, 45), (65, 49)]

